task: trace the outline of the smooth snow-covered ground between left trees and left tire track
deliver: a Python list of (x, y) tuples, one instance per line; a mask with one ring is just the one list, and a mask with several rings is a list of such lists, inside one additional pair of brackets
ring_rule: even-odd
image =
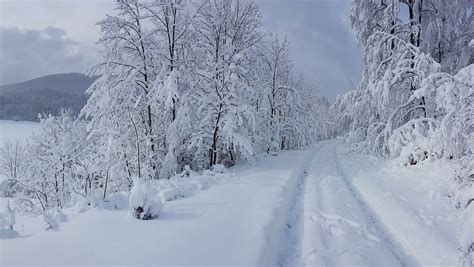
[(274, 207), (286, 205), (288, 184), (307, 155), (238, 166), (209, 189), (165, 203), (151, 221), (127, 211), (66, 210), (69, 221), (44, 231), (41, 219), (18, 216), (21, 237), (0, 241), (0, 265), (255, 265), (268, 260), (262, 250), (280, 227)]

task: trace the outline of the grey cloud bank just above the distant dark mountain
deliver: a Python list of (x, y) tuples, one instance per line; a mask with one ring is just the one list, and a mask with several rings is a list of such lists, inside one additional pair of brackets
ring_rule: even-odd
[(86, 47), (68, 38), (64, 29), (0, 27), (0, 84), (46, 74), (84, 71)]

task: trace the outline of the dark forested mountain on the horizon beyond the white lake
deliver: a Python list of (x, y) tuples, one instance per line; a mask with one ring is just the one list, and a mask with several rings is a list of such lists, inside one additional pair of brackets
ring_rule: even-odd
[(47, 75), (0, 86), (0, 119), (36, 121), (39, 113), (69, 109), (77, 115), (87, 101), (85, 90), (97, 79), (80, 73)]

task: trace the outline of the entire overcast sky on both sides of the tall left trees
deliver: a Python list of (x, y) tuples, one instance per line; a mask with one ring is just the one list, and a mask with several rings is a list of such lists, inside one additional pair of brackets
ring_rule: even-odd
[[(84, 72), (97, 60), (95, 22), (113, 0), (0, 0), (0, 84)], [(350, 0), (260, 0), (266, 28), (287, 35), (293, 67), (331, 101), (357, 83), (362, 53)]]

